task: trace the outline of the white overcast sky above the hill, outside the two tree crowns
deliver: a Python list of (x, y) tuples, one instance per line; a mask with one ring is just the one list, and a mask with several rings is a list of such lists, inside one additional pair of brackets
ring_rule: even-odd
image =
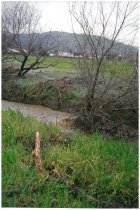
[[(45, 31), (64, 31), (72, 33), (71, 18), (69, 14), (68, 1), (35, 1), (33, 4), (36, 5), (37, 9), (40, 10), (42, 14), (41, 25), (45, 26)], [(125, 5), (125, 2), (124, 2)], [(135, 12), (135, 15), (138, 15)], [(112, 21), (113, 22), (113, 21)], [(75, 22), (74, 28), (76, 33), (80, 33), (80, 27)], [(98, 27), (97, 27), (98, 28)], [(132, 42), (133, 34), (129, 34), (129, 30), (125, 30), (122, 33), (121, 41), (129, 44)], [(133, 45), (138, 45), (138, 35), (135, 38)]]

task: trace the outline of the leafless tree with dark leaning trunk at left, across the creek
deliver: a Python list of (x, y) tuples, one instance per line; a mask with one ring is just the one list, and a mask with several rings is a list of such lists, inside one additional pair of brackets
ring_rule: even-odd
[[(41, 15), (27, 2), (4, 2), (2, 5), (2, 53), (11, 53), (21, 63), (18, 77), (24, 76), (30, 69), (47, 68), (58, 62), (41, 66), (54, 46), (49, 45), (49, 38), (41, 38)], [(13, 52), (13, 48), (17, 53)], [(33, 56), (32, 60), (30, 59)], [(3, 56), (4, 59), (6, 56)]]

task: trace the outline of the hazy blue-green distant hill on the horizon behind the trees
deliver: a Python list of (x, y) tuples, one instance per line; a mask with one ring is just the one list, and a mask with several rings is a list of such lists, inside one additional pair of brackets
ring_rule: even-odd
[[(82, 50), (85, 54), (90, 56), (90, 47), (88, 44), (83, 42), (84, 35), (83, 34), (76, 34), (77, 39), (81, 43)], [(97, 40), (100, 37), (93, 36), (93, 41), (95, 45), (97, 44)], [(21, 41), (23, 47), (26, 49), (28, 44), (28, 35), (23, 34), (21, 35)], [(40, 35), (40, 39), (38, 42), (42, 43), (45, 50), (49, 51), (49, 53), (54, 53), (56, 51), (65, 51), (65, 52), (73, 52), (73, 53), (81, 53), (81, 49), (76, 41), (75, 35), (73, 33), (68, 32), (46, 32)], [(111, 40), (107, 38), (101, 39), (101, 43), (105, 43), (106, 46), (110, 45)], [(98, 49), (100, 51), (100, 49)], [(127, 55), (134, 55), (138, 52), (138, 48), (132, 45), (126, 45), (121, 42), (115, 42), (113, 48), (111, 49), (111, 53), (119, 55), (119, 54), (127, 54)]]

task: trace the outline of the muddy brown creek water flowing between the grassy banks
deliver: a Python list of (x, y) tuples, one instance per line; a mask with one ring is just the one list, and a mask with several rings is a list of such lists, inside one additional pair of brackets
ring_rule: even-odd
[(56, 111), (41, 105), (23, 104), (2, 100), (2, 110), (20, 111), (25, 116), (35, 117), (45, 124), (55, 124), (63, 129), (72, 129), (74, 116), (67, 112)]

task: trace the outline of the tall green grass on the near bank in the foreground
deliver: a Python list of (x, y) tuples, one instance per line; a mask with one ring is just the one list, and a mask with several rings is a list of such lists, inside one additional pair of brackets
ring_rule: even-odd
[[(70, 185), (53, 173), (46, 180), (37, 176), (31, 155), (36, 131), (41, 134), (44, 168), (55, 163), (56, 168), (78, 187), (77, 197)], [(69, 144), (50, 144), (51, 136), (58, 133), (61, 133), (59, 128), (45, 126), (19, 112), (7, 110), (2, 113), (3, 207), (105, 207), (102, 202), (89, 202), (83, 198), (83, 192), (99, 201), (137, 207), (136, 144), (107, 140), (98, 133), (86, 135), (76, 131), (69, 134)]]

